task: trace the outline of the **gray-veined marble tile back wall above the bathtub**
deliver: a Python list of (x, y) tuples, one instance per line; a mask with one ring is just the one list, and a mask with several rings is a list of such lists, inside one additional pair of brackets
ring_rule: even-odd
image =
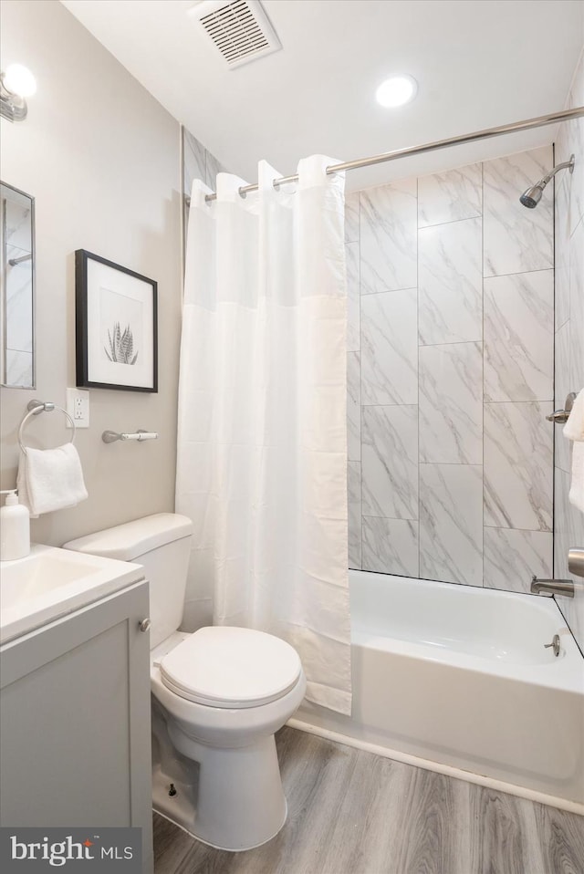
[(553, 201), (518, 198), (552, 166), (549, 146), (348, 195), (350, 567), (551, 575)]

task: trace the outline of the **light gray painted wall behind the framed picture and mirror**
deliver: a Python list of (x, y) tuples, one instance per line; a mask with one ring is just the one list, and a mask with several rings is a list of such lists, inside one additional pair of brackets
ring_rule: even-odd
[[(75, 385), (74, 252), (102, 255), (158, 282), (159, 393), (91, 390), (78, 431), (89, 500), (32, 523), (61, 544), (174, 505), (181, 319), (178, 122), (57, 0), (2, 3), (3, 68), (26, 64), (38, 90), (28, 119), (2, 122), (2, 178), (36, 198), (36, 390), (2, 390), (2, 488), (16, 482), (16, 432), (31, 398), (66, 403)], [(146, 428), (160, 440), (101, 442)], [(68, 440), (64, 417), (27, 426), (31, 445)]]

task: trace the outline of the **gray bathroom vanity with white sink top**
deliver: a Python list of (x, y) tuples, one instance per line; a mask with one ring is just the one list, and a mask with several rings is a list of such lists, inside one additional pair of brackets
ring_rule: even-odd
[(141, 827), (148, 874), (143, 568), (36, 545), (0, 575), (0, 824)]

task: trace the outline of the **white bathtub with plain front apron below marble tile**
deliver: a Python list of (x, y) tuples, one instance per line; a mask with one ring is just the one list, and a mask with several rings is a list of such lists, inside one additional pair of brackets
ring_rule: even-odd
[(554, 600), (349, 576), (352, 716), (289, 724), (584, 813), (584, 659)]

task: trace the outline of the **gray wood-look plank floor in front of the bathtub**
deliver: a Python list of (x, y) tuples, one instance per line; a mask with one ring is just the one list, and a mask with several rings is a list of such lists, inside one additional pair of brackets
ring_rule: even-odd
[(155, 874), (584, 874), (584, 817), (284, 728), (288, 818), (207, 847), (154, 816)]

